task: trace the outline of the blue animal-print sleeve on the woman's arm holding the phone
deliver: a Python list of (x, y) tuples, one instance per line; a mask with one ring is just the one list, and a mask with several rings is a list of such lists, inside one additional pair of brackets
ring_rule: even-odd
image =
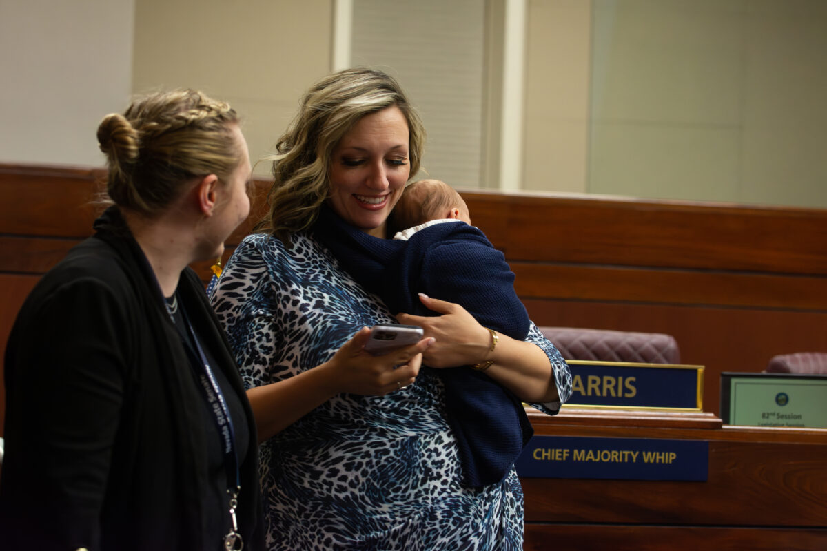
[(256, 240), (241, 241), (227, 261), (210, 301), (236, 356), (247, 389), (274, 382), (276, 353), (284, 347), (272, 315), (273, 286)]

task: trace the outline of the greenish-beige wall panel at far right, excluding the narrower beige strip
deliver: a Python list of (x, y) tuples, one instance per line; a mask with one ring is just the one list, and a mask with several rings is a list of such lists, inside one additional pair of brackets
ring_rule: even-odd
[(594, 3), (588, 191), (827, 207), (827, 2)]

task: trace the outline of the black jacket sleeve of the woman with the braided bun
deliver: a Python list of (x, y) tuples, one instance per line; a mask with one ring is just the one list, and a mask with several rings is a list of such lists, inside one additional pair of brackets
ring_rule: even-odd
[(126, 310), (99, 280), (79, 278), (36, 292), (12, 330), (0, 515), (21, 549), (99, 548), (131, 354)]

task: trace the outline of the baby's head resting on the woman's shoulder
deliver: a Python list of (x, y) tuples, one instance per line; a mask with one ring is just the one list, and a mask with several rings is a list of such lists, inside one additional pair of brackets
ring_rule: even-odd
[(390, 235), (425, 222), (456, 218), (471, 224), (471, 213), (460, 194), (440, 180), (409, 183), (390, 214)]

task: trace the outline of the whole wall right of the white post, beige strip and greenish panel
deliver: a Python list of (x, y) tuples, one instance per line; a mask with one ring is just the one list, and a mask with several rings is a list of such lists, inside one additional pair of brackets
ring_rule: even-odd
[(525, 190), (827, 208), (827, 2), (532, 0)]

